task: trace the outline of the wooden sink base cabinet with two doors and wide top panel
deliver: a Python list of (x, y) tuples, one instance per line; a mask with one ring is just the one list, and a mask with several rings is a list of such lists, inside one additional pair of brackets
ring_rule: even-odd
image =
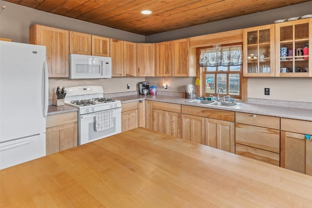
[(234, 112), (181, 106), (181, 138), (234, 153)]

